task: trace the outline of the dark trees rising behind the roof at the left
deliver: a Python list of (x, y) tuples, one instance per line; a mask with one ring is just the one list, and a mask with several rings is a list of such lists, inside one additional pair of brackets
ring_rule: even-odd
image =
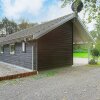
[(1, 23), (2, 24), (0, 24), (0, 28), (5, 28), (6, 34), (12, 34), (19, 30), (23, 30), (32, 27), (34, 25), (37, 25), (37, 23), (29, 23), (28, 21), (25, 20), (22, 20), (20, 24), (17, 24), (15, 21), (9, 20), (6, 17), (2, 19)]

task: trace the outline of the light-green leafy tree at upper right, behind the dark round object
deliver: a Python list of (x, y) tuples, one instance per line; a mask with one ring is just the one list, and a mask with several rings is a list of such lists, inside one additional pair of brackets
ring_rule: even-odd
[[(62, 7), (65, 7), (67, 4), (76, 2), (77, 4), (81, 0), (61, 0), (63, 1)], [(95, 29), (91, 32), (91, 35), (94, 39), (100, 40), (100, 0), (84, 0), (84, 19), (86, 23), (91, 23), (95, 21)], [(88, 16), (87, 16), (88, 15)], [(86, 18), (87, 17), (87, 18)], [(86, 18), (86, 19), (85, 19)]]

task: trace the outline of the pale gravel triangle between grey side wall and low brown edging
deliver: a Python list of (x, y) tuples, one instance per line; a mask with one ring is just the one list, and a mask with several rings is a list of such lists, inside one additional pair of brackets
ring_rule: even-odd
[(30, 71), (30, 70), (19, 68), (19, 67), (16, 67), (14, 65), (0, 62), (0, 77), (24, 73), (24, 72), (28, 72), (28, 71)]

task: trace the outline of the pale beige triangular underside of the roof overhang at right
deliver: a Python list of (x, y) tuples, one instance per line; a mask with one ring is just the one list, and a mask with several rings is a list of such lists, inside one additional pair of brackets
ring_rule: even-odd
[(79, 44), (95, 42), (79, 17), (73, 21), (73, 41)]

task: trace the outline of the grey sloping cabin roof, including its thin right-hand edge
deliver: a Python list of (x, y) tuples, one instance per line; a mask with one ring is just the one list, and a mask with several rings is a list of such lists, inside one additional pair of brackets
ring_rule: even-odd
[[(48, 32), (52, 31), (53, 29), (59, 27), (60, 25), (68, 22), (69, 20), (74, 19), (75, 17), (76, 17), (75, 13), (72, 13), (72, 14), (45, 22), (43, 24), (34, 26), (34, 27), (15, 32), (13, 34), (7, 35), (6, 37), (0, 38), (0, 44), (4, 45), (4, 44), (9, 44), (9, 43), (19, 42), (27, 38), (31, 38), (33, 40), (38, 39), (42, 37), (43, 35), (47, 34)], [(79, 20), (79, 23), (82, 25), (82, 28), (86, 30), (80, 20)], [(93, 41), (92, 37), (89, 35), (87, 31), (85, 31), (85, 34), (88, 37), (89, 41)]]

